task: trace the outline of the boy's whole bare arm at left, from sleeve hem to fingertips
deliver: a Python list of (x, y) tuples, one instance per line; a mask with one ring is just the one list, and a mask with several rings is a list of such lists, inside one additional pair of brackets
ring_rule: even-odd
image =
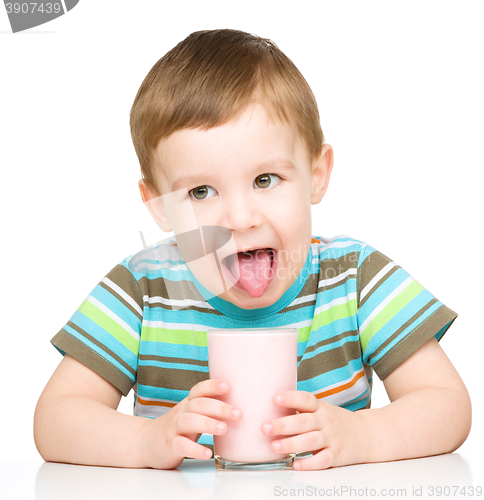
[(223, 434), (227, 425), (219, 419), (242, 416), (212, 399), (229, 390), (220, 382), (200, 382), (161, 417), (135, 417), (116, 411), (116, 387), (66, 354), (37, 403), (35, 444), (46, 461), (83, 465), (172, 469), (185, 457), (210, 458), (198, 436)]

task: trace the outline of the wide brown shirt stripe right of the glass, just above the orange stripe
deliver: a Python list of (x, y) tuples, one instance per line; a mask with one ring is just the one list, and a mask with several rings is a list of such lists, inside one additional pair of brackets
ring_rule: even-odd
[(302, 359), (297, 375), (298, 381), (309, 380), (332, 370), (347, 366), (354, 359), (361, 359), (359, 340), (346, 342), (343, 346), (324, 351), (309, 359)]

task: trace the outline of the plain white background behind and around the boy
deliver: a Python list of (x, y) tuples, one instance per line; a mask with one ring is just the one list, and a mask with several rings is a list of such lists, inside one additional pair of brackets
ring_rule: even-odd
[(479, 1), (81, 0), (12, 34), (0, 5), (0, 462), (41, 461), (32, 419), (61, 360), (51, 337), (142, 248), (139, 231), (168, 236), (139, 196), (129, 111), (164, 53), (215, 28), (271, 38), (316, 95), (335, 166), (313, 234), (367, 241), (459, 313), (441, 345), (473, 401), (459, 452), (479, 456), (483, 14)]

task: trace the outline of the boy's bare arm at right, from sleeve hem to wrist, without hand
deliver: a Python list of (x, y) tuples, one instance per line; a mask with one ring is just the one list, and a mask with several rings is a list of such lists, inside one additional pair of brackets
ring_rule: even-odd
[(391, 404), (363, 410), (371, 443), (368, 462), (456, 450), (471, 429), (469, 394), (435, 338), (383, 380)]

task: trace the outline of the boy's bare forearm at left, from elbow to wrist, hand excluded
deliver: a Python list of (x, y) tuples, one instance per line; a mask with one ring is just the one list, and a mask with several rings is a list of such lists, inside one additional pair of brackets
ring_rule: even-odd
[(50, 462), (147, 467), (142, 436), (150, 420), (120, 413), (93, 399), (64, 396), (37, 408), (34, 436)]

